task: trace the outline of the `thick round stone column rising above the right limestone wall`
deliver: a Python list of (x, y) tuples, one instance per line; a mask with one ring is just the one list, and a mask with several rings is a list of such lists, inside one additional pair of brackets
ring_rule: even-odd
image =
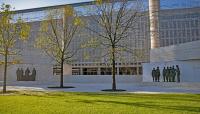
[(160, 47), (159, 10), (160, 10), (160, 0), (149, 0), (151, 49)]

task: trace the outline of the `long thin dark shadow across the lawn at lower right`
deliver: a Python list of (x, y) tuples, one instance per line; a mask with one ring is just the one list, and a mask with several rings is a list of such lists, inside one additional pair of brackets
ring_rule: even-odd
[(154, 102), (120, 102), (120, 101), (104, 101), (104, 100), (79, 100), (82, 103), (106, 103), (106, 104), (118, 104), (118, 105), (128, 105), (135, 107), (151, 108), (151, 109), (170, 109), (179, 111), (189, 111), (189, 112), (200, 112), (200, 107), (197, 106), (172, 106), (172, 105), (156, 105)]

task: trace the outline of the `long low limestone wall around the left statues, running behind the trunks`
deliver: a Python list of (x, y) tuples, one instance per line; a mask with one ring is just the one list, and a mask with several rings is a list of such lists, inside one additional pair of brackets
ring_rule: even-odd
[[(24, 72), (26, 68), (29, 68), (31, 73), (32, 69), (36, 69), (36, 80), (35, 81), (17, 81), (16, 71), (17, 68), (23, 68)], [(7, 83), (8, 84), (20, 84), (20, 83), (30, 83), (31, 84), (55, 84), (60, 82), (59, 75), (53, 75), (53, 66), (47, 64), (18, 64), (8, 67)], [(64, 83), (111, 83), (111, 75), (71, 75), (70, 66), (65, 65), (64, 71)], [(68, 69), (68, 70), (67, 70)], [(3, 70), (3, 67), (0, 68)], [(69, 72), (67, 72), (69, 71)], [(30, 73), (30, 74), (31, 74)], [(116, 76), (118, 83), (134, 83), (142, 82), (142, 76), (135, 75), (120, 75)], [(0, 81), (3, 81), (3, 73), (0, 75)]]

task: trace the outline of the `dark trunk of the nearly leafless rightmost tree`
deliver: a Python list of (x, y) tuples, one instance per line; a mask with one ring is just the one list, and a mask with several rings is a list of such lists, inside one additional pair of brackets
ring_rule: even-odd
[(116, 90), (116, 80), (115, 80), (115, 48), (112, 48), (112, 90)]

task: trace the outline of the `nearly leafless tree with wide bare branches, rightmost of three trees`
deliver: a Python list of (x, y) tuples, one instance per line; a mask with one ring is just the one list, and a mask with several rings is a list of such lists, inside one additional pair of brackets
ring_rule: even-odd
[[(96, 0), (86, 29), (95, 33), (105, 49), (112, 65), (112, 90), (116, 91), (116, 63), (121, 54), (128, 49), (128, 37), (141, 16), (141, 0)], [(91, 22), (94, 26), (91, 26)], [(128, 50), (130, 51), (130, 50)]]

